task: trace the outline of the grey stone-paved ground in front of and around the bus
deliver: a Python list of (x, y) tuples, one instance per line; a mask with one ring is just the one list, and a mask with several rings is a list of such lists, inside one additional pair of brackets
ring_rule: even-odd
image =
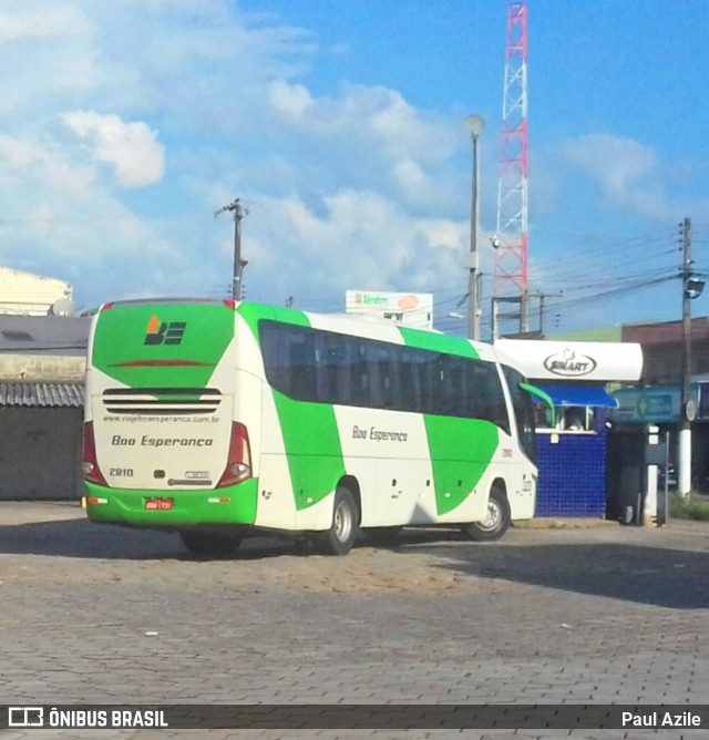
[[(0, 504), (2, 703), (709, 703), (709, 524), (523, 528), (475, 545), (228, 561)], [(8, 740), (557, 738), (569, 732), (37, 730)], [(575, 738), (648, 731), (574, 730)], [(664, 738), (682, 737), (664, 731)], [(709, 738), (709, 728), (685, 732)]]

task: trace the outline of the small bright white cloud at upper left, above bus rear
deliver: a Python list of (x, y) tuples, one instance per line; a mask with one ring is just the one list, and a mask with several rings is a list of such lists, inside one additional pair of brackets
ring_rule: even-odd
[(124, 123), (117, 115), (92, 111), (74, 111), (62, 117), (76, 136), (92, 144), (94, 160), (115, 166), (123, 187), (153, 185), (163, 178), (165, 150), (145, 123)]

